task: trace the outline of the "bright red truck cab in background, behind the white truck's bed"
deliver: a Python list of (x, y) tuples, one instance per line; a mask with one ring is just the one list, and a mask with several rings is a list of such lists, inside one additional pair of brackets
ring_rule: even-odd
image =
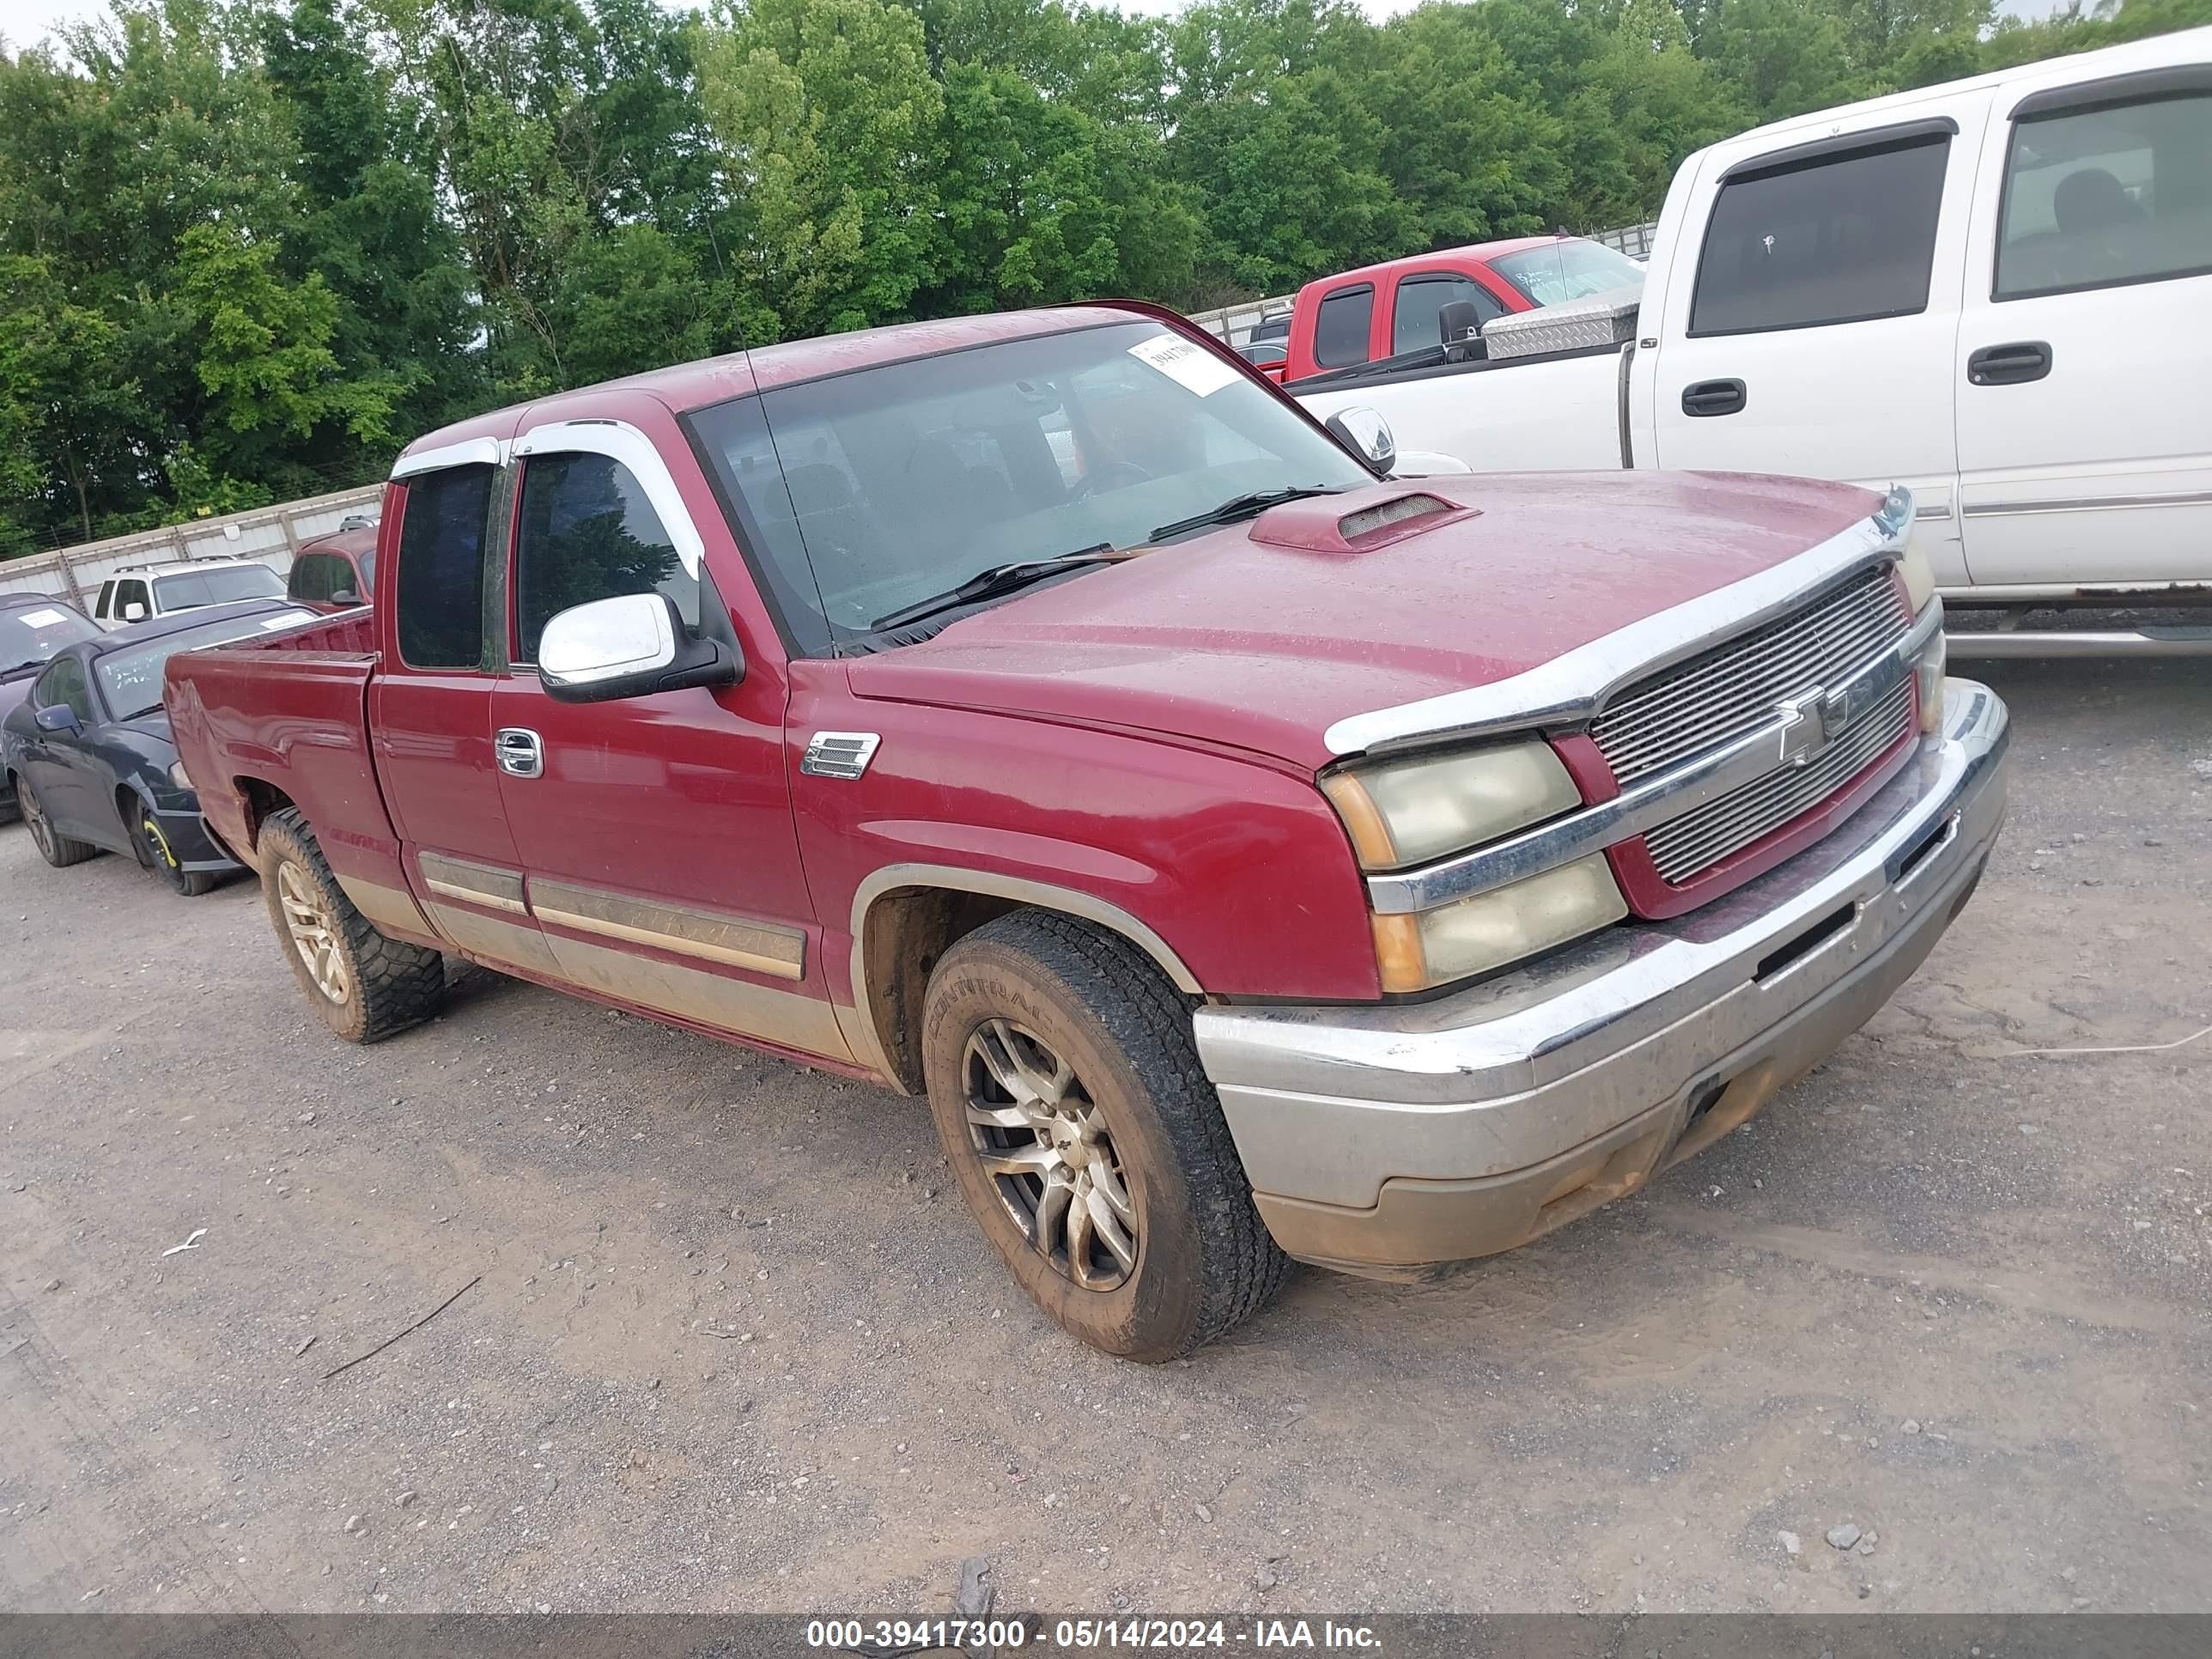
[(1453, 301), (1471, 303), (1486, 325), (1641, 283), (1637, 261), (1588, 237), (1509, 237), (1345, 270), (1298, 290), (1283, 367), (1270, 378), (1303, 380), (1438, 345), (1440, 314)]

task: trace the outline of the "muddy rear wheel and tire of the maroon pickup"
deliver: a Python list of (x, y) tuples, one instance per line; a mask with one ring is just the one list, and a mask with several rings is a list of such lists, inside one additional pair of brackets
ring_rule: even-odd
[(261, 825), (261, 898), (307, 1002), (347, 1042), (383, 1042), (445, 1002), (445, 958), (354, 909), (299, 810)]

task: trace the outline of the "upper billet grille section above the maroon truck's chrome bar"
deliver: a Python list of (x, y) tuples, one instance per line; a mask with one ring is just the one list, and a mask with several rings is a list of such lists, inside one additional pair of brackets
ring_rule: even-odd
[(1759, 730), (1785, 697), (1838, 686), (1909, 626), (1882, 564), (1803, 611), (1637, 681), (1590, 721), (1590, 737), (1628, 787)]

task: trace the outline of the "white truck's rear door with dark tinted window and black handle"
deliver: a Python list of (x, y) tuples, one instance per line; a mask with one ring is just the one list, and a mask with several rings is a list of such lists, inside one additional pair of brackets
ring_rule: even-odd
[(1705, 153), (1644, 319), (1659, 467), (1909, 484), (1964, 582), (1951, 363), (1986, 106), (1882, 100)]

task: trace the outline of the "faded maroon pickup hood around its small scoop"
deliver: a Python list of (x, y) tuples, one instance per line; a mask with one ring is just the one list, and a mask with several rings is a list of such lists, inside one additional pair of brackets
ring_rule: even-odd
[[(1409, 493), (1453, 511), (1336, 533)], [(1520, 675), (1878, 504), (1849, 484), (1743, 473), (1402, 480), (1274, 507), (847, 668), (858, 697), (1137, 728), (1318, 770), (1338, 719)]]

